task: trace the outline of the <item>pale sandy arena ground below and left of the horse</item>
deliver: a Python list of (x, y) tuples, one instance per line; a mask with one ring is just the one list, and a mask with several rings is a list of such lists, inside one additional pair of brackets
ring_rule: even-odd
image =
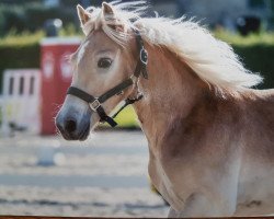
[(140, 131), (0, 138), (0, 215), (165, 217)]

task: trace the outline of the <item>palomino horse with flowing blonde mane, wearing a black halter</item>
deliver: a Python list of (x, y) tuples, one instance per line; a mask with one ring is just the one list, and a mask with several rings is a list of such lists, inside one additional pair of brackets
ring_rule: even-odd
[(274, 90), (250, 89), (262, 78), (198, 24), (140, 18), (138, 3), (77, 7), (85, 38), (71, 56), (61, 135), (84, 140), (132, 100), (171, 217), (273, 214)]

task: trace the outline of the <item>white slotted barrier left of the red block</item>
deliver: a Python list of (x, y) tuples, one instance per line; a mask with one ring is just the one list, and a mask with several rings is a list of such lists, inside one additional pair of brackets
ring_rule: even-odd
[(38, 69), (9, 69), (3, 73), (1, 131), (12, 129), (38, 134), (41, 71)]

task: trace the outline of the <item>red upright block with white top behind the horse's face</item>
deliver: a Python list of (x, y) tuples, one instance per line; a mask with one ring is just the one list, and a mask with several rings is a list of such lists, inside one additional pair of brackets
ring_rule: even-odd
[(41, 42), (41, 134), (56, 134), (55, 116), (71, 82), (69, 56), (77, 50), (80, 38), (44, 38)]

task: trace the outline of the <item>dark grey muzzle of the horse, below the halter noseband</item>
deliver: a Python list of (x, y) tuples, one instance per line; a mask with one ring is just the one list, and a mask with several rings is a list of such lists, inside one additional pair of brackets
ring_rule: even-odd
[(91, 112), (82, 115), (76, 112), (58, 113), (55, 124), (66, 140), (85, 140), (90, 134)]

